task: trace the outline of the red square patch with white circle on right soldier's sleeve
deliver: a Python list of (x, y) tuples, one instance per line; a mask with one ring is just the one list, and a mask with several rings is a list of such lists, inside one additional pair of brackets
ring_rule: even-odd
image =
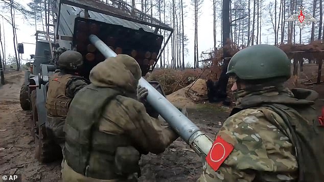
[(206, 162), (217, 171), (219, 166), (225, 161), (230, 152), (232, 152), (234, 146), (227, 143), (220, 136), (217, 136), (211, 150), (206, 156)]

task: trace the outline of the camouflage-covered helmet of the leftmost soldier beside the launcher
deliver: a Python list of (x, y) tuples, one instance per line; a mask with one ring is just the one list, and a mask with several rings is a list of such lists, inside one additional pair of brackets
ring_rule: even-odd
[(74, 50), (66, 50), (60, 55), (57, 65), (60, 69), (77, 70), (83, 64), (82, 55)]

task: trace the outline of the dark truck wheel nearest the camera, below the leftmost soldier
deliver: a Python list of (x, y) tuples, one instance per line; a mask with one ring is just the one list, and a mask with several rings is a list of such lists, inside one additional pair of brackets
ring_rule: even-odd
[(35, 155), (39, 162), (51, 163), (63, 158), (61, 147), (47, 138), (45, 125), (39, 127), (38, 135), (35, 134), (35, 144)]

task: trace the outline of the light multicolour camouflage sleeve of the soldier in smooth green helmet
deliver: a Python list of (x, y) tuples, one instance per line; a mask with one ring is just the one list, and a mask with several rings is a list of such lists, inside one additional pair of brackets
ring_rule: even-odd
[(229, 117), (217, 136), (234, 145), (217, 171), (205, 162), (198, 181), (294, 181), (297, 162), (288, 137), (262, 110), (247, 109)]

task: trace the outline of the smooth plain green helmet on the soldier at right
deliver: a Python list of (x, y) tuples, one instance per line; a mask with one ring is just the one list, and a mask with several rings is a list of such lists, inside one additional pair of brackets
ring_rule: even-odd
[(283, 50), (273, 45), (259, 44), (244, 48), (228, 63), (226, 74), (236, 74), (241, 80), (262, 80), (272, 77), (290, 78), (290, 60)]

